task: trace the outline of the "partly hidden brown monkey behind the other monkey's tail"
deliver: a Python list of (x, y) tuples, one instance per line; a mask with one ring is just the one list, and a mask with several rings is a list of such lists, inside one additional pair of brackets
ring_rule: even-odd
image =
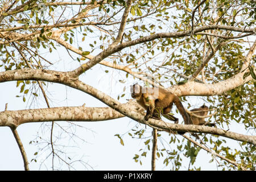
[[(209, 108), (207, 106), (203, 105), (203, 106), (201, 106), (199, 108), (192, 109), (190, 111), (200, 111), (200, 112), (195, 112), (194, 114), (200, 115), (200, 116), (205, 116), (205, 115), (208, 114), (208, 109)], [(190, 115), (190, 117), (191, 117), (191, 120), (193, 122), (193, 125), (204, 125), (206, 123), (204, 118), (197, 118), (197, 117), (195, 117), (193, 115)], [(214, 123), (207, 123), (206, 125), (207, 126), (215, 126)]]

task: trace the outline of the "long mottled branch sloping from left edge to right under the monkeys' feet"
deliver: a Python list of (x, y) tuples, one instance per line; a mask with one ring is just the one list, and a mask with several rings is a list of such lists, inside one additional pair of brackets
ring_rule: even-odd
[[(14, 80), (44, 80), (50, 82), (58, 82), (60, 84), (64, 84), (67, 86), (71, 86), (72, 88), (81, 90), (82, 92), (88, 93), (93, 97), (96, 97), (98, 100), (104, 102), (106, 105), (112, 107), (112, 109), (117, 110), (119, 113), (126, 115), (127, 117), (134, 119), (140, 123), (144, 123), (144, 115), (139, 112), (141, 110), (137, 105), (130, 104), (129, 107), (125, 104), (121, 104), (118, 101), (114, 100), (112, 97), (106, 95), (93, 88), (92, 86), (86, 85), (79, 80), (75, 80), (70, 78), (67, 73), (64, 72), (54, 72), (54, 71), (46, 71), (40, 69), (18, 69), (15, 71), (5, 71), (0, 72), (0, 82), (4, 81), (14, 81)], [(199, 83), (196, 83), (199, 84)], [(183, 86), (183, 85), (180, 85)], [(47, 117), (47, 115), (45, 116)], [(49, 116), (48, 116), (49, 117)], [(52, 118), (49, 118), (52, 119)], [(167, 132), (175, 131), (190, 131), (194, 133), (209, 133), (216, 134), (222, 137), (228, 137), (240, 141), (246, 141), (253, 144), (256, 144), (256, 137), (254, 136), (246, 136), (242, 134), (232, 133), (230, 131), (225, 131), (221, 129), (216, 129), (207, 126), (188, 126), (188, 125), (178, 125), (172, 123), (165, 123), (163, 121), (158, 121), (154, 119), (150, 119), (148, 121), (150, 126), (163, 129)]]

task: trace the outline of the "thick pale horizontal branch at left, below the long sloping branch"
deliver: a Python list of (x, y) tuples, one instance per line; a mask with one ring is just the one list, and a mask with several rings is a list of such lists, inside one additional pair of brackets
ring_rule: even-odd
[(17, 127), (23, 123), (50, 121), (106, 121), (124, 115), (110, 107), (51, 107), (0, 112), (0, 126)]

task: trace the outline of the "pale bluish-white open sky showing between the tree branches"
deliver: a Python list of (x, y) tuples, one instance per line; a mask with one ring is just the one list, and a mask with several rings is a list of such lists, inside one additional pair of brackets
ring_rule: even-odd
[[(78, 47), (88, 47), (88, 42), (93, 42), (93, 40), (86, 37), (85, 42), (79, 42), (73, 46)], [(46, 57), (52, 63), (55, 63), (51, 69), (56, 71), (70, 71), (79, 66), (79, 63), (76, 60), (73, 60), (67, 53), (67, 51), (57, 46), (57, 51), (53, 49), (51, 54), (43, 53), (42, 56)], [(42, 52), (46, 52), (42, 50)], [(74, 53), (71, 53), (73, 57), (76, 57)], [(93, 53), (96, 55), (96, 52)], [(106, 73), (105, 70), (108, 70), (109, 73)], [(3, 71), (0, 68), (0, 71)], [(96, 65), (86, 73), (80, 76), (80, 80), (84, 81), (86, 84), (94, 86), (95, 88), (105, 92), (113, 98), (117, 99), (118, 94), (122, 93), (123, 87), (126, 88), (133, 84), (136, 80), (129, 77), (128, 81), (125, 84), (120, 83), (118, 80), (126, 79), (126, 73), (122, 71), (113, 71), (113, 69), (106, 68), (102, 65)], [(60, 84), (48, 83), (47, 87), (44, 87), (47, 92), (47, 96), (50, 100), (51, 107), (60, 107), (60, 106), (81, 106), (86, 104), (86, 107), (104, 107), (106, 106), (102, 102), (98, 101), (96, 98), (89, 96), (86, 93), (82, 93), (79, 90), (68, 88), (67, 86)], [(46, 108), (47, 105), (40, 94), (40, 97), (37, 101), (31, 100), (31, 97), (26, 97), (26, 102), (22, 101), (22, 97), (19, 93), (20, 87), (16, 88), (16, 82), (3, 82), (0, 83), (0, 111), (5, 110), (5, 104), (8, 103), (8, 110), (22, 110), (22, 109), (32, 109), (32, 108)], [(122, 98), (121, 102), (126, 102), (126, 99), (131, 99), (128, 92), (129, 89), (126, 89), (126, 95)], [(38, 92), (40, 93), (40, 91)], [(200, 107), (204, 104), (203, 100), (198, 97), (187, 97), (189, 103), (192, 103), (194, 107)], [(184, 107), (187, 107), (184, 104)], [(176, 108), (176, 107), (174, 107)], [(175, 109), (172, 109), (175, 113)], [(180, 114), (175, 114), (179, 118), (179, 121), (183, 121)], [(57, 140), (57, 144), (65, 144), (65, 147), (60, 146), (60, 148), (70, 154), (75, 160), (82, 159), (85, 163), (81, 164), (79, 162), (74, 163), (74, 167), (77, 170), (150, 170), (151, 169), (151, 151), (146, 155), (146, 158), (142, 157), (141, 166), (139, 163), (135, 163), (133, 157), (135, 154), (141, 154), (139, 150), (144, 150), (144, 139), (134, 139), (131, 138), (127, 133), (138, 126), (140, 129), (145, 126), (138, 124), (130, 118), (120, 118), (114, 119), (111, 121), (101, 121), (101, 122), (75, 122), (77, 127), (70, 127), (66, 122), (56, 122), (61, 126), (67, 127), (67, 130), (72, 131), (74, 134), (79, 136), (81, 139), (77, 139), (75, 136), (72, 138), (76, 142), (73, 142), (72, 139), (67, 138), (67, 135), (62, 135), (60, 130), (55, 127), (55, 136), (65, 137), (62, 140)], [(49, 139), (49, 130), (48, 127), (51, 126), (51, 123), (48, 125), (42, 125), (42, 123), (26, 123), (20, 125), (17, 130), (20, 135), (20, 139), (23, 142), (23, 146), (26, 150), (28, 162), (30, 162), (31, 170), (51, 170), (51, 158), (44, 161), (44, 164), (40, 166), (40, 162), (43, 162), (44, 158), (49, 155), (49, 150), (41, 151), (38, 146), (31, 141), (36, 141), (38, 135)], [(82, 128), (82, 127), (84, 128)], [(242, 125), (234, 122), (230, 126), (230, 131), (237, 133), (244, 133)], [(38, 131), (40, 131), (38, 133)], [(146, 137), (151, 135), (151, 129), (147, 127)], [(115, 137), (115, 134), (123, 135), (124, 146), (120, 144), (118, 137)], [(160, 142), (168, 142), (170, 137), (167, 133), (161, 133), (163, 138), (166, 140), (159, 140)], [(180, 136), (178, 138), (182, 139)], [(226, 139), (229, 146), (238, 146), (236, 140)], [(187, 142), (185, 140), (185, 142)], [(39, 144), (39, 146), (45, 146), (45, 143)], [(56, 147), (57, 148), (57, 147)], [(172, 146), (169, 148), (172, 150)], [(35, 155), (36, 152), (38, 155)], [(60, 151), (62, 152), (62, 151)], [(35, 162), (32, 159), (35, 159), (38, 162)], [(199, 157), (196, 159), (194, 166), (201, 167), (203, 170), (218, 170), (218, 163), (214, 161), (209, 163), (212, 159), (210, 154), (207, 154), (204, 150), (200, 150)], [(68, 160), (68, 159), (67, 159)], [(165, 166), (163, 164), (164, 158), (156, 160), (156, 170), (170, 170), (170, 166)], [(220, 161), (219, 159), (217, 159)], [(57, 162), (55, 162), (57, 163)], [(184, 167), (181, 170), (187, 170), (189, 166), (189, 159), (183, 160)], [(47, 167), (46, 167), (47, 166)], [(59, 169), (59, 168), (56, 168)], [(61, 166), (61, 169), (67, 170), (67, 166)], [(72, 168), (73, 169), (73, 168)], [(15, 142), (13, 134), (9, 127), (0, 127), (0, 170), (24, 170), (22, 156), (20, 154), (18, 145)]]

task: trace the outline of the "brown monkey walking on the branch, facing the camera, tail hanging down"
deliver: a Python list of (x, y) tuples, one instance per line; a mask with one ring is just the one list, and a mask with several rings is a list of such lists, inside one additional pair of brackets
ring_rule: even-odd
[(179, 119), (169, 114), (172, 105), (175, 104), (184, 119), (185, 125), (192, 125), (191, 118), (189, 118), (179, 97), (175, 94), (167, 92), (162, 88), (144, 88), (139, 84), (132, 85), (130, 89), (131, 97), (135, 98), (138, 104), (147, 110), (144, 117), (146, 121), (149, 118), (160, 119), (160, 114), (162, 114), (163, 117), (178, 123)]

